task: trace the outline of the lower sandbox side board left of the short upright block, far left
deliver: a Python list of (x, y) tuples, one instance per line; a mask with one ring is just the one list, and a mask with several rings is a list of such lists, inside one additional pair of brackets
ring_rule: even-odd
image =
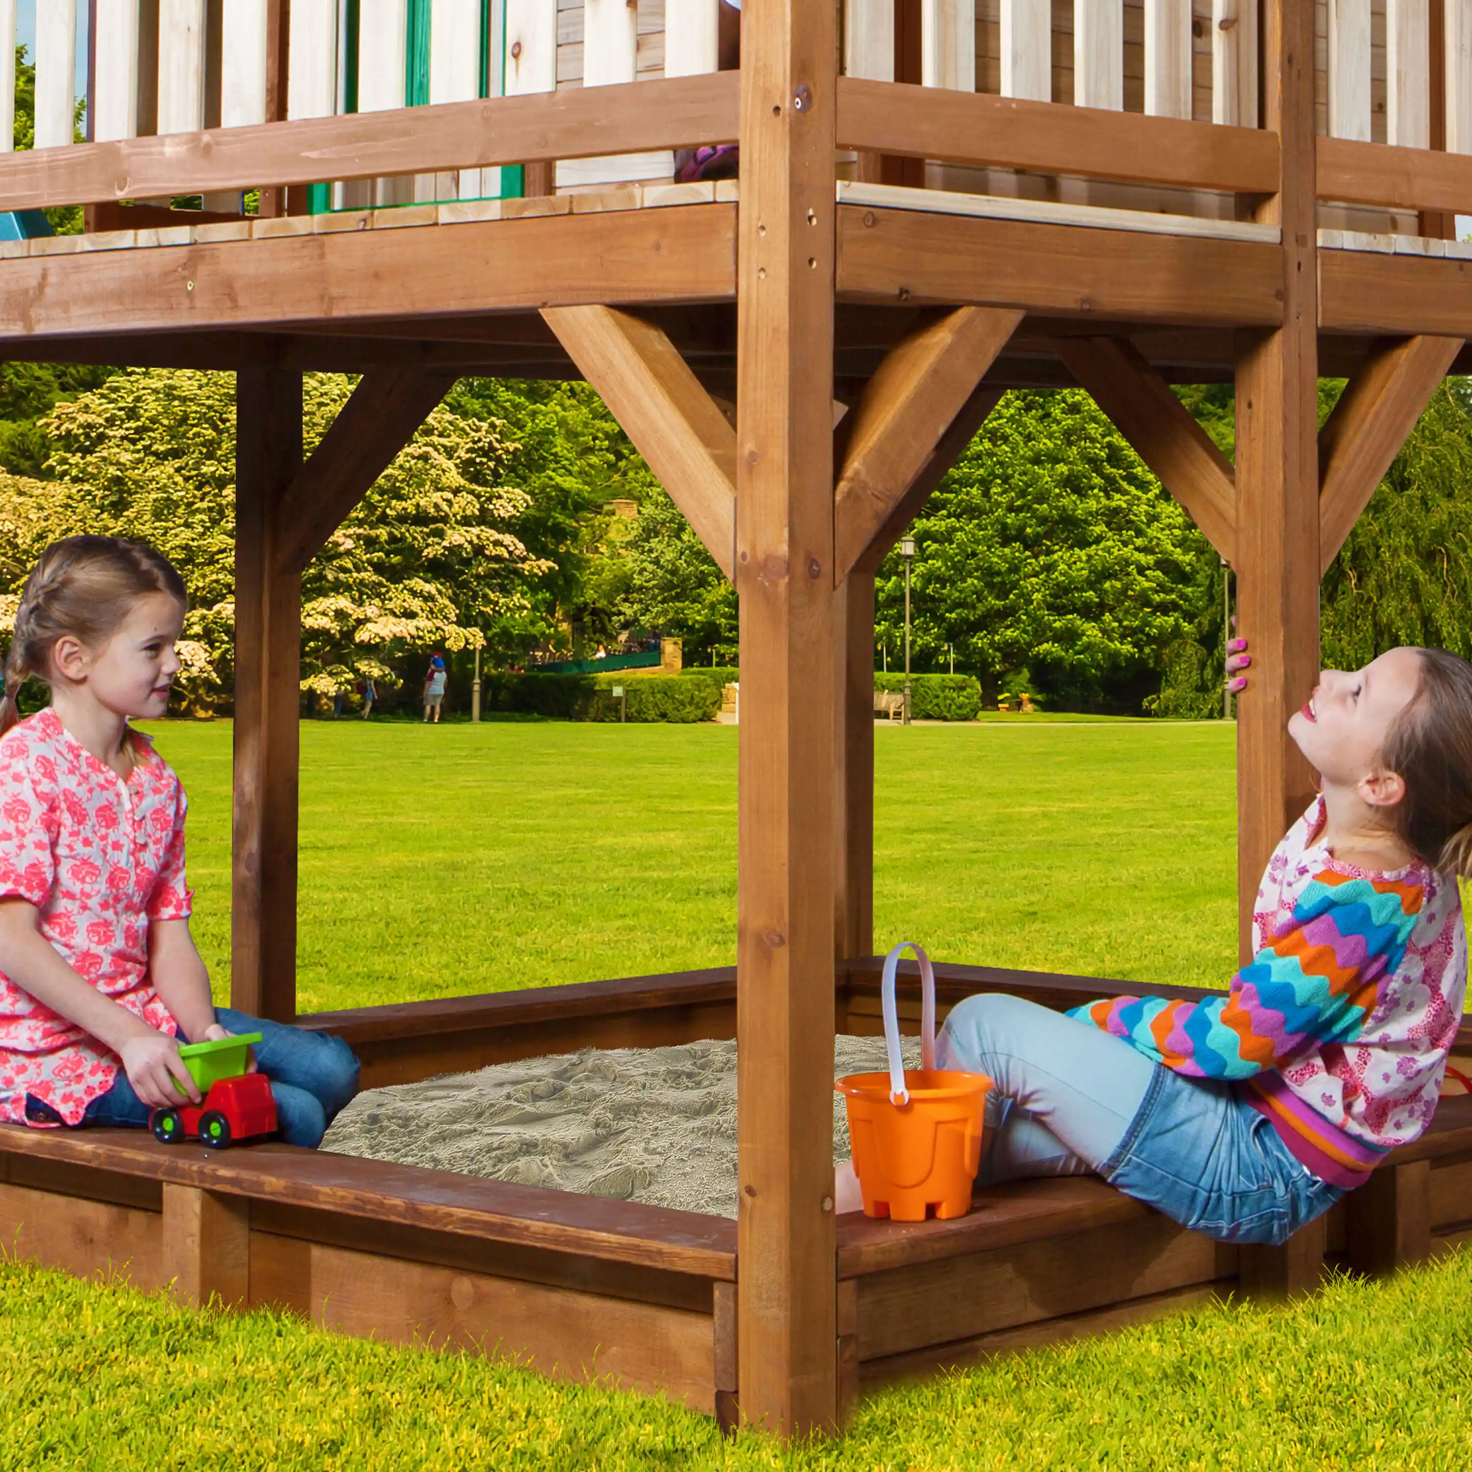
[(0, 1185), (0, 1241), (12, 1257), (78, 1278), (119, 1275), (144, 1292), (168, 1282), (160, 1220), (155, 1211)]

